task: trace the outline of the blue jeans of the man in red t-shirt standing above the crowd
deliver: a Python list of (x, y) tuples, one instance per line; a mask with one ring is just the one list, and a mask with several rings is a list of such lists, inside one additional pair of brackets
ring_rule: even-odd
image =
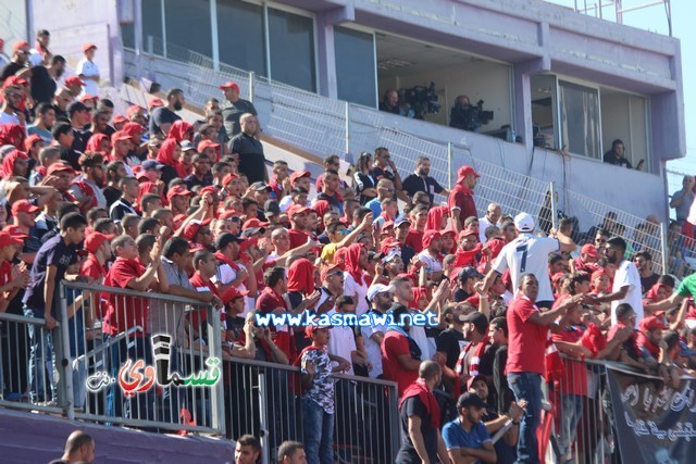
[(536, 373), (508, 374), (508, 384), (515, 401), (526, 400), (526, 409), (520, 422), (518, 440), (518, 462), (539, 462), (536, 429), (542, 417), (542, 375)]

